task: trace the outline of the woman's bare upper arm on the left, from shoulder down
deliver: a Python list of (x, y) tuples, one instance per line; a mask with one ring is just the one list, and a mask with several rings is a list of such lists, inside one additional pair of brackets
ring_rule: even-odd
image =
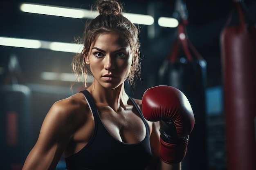
[[(70, 106), (70, 107), (69, 107)], [(79, 124), (73, 124), (72, 105), (56, 102), (47, 113), (38, 140), (29, 152), (23, 170), (54, 170)], [(74, 109), (73, 109), (74, 110)], [(71, 125), (75, 126), (71, 126)]]

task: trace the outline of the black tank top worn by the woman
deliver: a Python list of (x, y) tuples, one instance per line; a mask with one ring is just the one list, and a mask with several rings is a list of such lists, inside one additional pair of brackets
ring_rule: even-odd
[(144, 170), (150, 161), (151, 149), (149, 127), (140, 109), (137, 108), (146, 126), (146, 137), (136, 144), (123, 143), (105, 128), (91, 94), (81, 91), (94, 116), (94, 131), (88, 144), (79, 152), (65, 158), (67, 170)]

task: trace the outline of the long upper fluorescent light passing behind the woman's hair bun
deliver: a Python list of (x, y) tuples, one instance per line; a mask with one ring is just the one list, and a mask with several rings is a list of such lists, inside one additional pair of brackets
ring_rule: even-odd
[[(55, 15), (69, 18), (90, 18), (93, 19), (99, 15), (98, 11), (88, 9), (58, 7), (44, 4), (22, 3), (20, 10), (28, 13), (39, 13), (45, 15)], [(135, 13), (123, 13), (124, 17), (128, 18), (132, 23), (152, 25), (154, 18), (151, 15), (142, 15)]]

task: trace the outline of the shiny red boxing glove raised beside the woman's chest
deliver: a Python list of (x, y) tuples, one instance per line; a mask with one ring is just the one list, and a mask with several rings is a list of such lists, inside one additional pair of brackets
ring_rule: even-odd
[(195, 123), (186, 96), (172, 86), (149, 88), (142, 97), (142, 113), (148, 121), (160, 122), (162, 161), (169, 164), (181, 162)]

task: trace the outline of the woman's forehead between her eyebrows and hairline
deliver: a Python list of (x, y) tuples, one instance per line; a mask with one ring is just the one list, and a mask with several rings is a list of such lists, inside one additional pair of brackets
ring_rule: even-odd
[(130, 46), (127, 38), (120, 33), (110, 32), (110, 33), (99, 33), (95, 40), (92, 42), (93, 45), (117, 45), (121, 47)]

